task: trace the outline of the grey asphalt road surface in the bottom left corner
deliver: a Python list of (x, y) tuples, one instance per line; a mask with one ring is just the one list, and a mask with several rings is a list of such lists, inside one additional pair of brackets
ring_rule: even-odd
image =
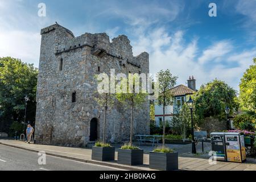
[[(0, 144), (0, 171), (116, 171), (117, 168), (100, 166), (46, 156), (46, 165), (39, 165), (39, 155), (19, 148)], [(41, 160), (42, 161), (42, 160)]]

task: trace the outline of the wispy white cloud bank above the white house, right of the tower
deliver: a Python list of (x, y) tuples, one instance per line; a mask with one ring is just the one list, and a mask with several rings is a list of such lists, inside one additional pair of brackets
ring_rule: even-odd
[(163, 27), (147, 35), (141, 34), (132, 42), (135, 54), (143, 51), (150, 53), (150, 72), (154, 74), (160, 69), (170, 69), (174, 75), (179, 76), (177, 84), (186, 85), (188, 77), (193, 75), (197, 80), (197, 88), (218, 78), (239, 90), (240, 78), (252, 64), (256, 51), (246, 50), (234, 54), (236, 50), (232, 43), (221, 40), (199, 53), (198, 38), (184, 43), (184, 34), (183, 31), (177, 31), (169, 35)]

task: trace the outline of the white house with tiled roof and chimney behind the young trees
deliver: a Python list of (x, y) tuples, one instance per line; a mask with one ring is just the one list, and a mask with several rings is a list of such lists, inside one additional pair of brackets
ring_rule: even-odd
[[(172, 126), (172, 119), (174, 116), (174, 110), (180, 109), (185, 102), (188, 100), (189, 95), (195, 93), (196, 90), (196, 80), (189, 76), (188, 86), (178, 85), (170, 90), (174, 95), (174, 105), (166, 106), (165, 110), (165, 120), (169, 122)], [(163, 121), (163, 106), (155, 105), (155, 122), (156, 126), (160, 126), (160, 123)]]

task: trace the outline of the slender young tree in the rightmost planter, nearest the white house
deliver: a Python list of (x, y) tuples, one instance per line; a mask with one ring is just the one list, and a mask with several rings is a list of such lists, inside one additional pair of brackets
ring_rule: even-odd
[(166, 121), (165, 121), (165, 109), (166, 106), (172, 105), (174, 97), (170, 90), (174, 88), (177, 77), (173, 76), (169, 69), (166, 71), (160, 70), (158, 72), (159, 79), (159, 97), (158, 105), (163, 106), (163, 148), (165, 147), (165, 134), (166, 134)]

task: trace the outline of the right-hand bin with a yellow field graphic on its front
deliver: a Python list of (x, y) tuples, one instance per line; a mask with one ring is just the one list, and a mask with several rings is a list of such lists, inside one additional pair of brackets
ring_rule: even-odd
[(225, 146), (228, 162), (246, 161), (245, 137), (242, 133), (225, 133)]

